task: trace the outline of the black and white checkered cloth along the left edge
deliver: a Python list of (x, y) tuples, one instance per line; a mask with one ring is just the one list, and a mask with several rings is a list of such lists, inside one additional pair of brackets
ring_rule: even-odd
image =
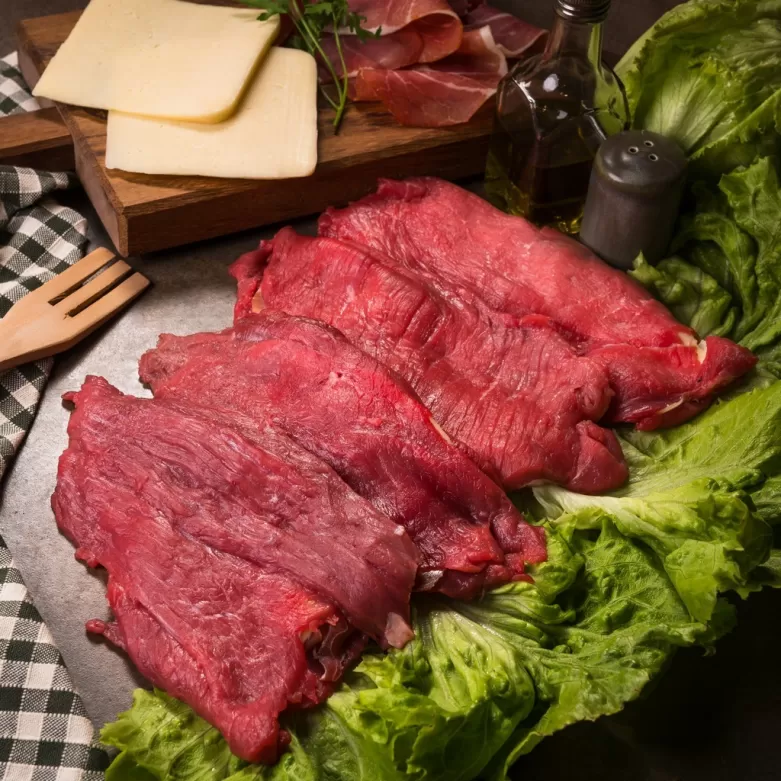
[[(34, 110), (0, 60), (0, 115)], [(82, 257), (86, 221), (49, 194), (68, 174), (0, 166), (0, 317)], [(30, 428), (51, 360), (0, 373), (0, 478)], [(49, 630), (0, 537), (0, 779), (99, 781), (108, 764)]]

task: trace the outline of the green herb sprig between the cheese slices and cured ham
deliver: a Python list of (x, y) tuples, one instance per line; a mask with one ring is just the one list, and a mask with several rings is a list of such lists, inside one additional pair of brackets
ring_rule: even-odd
[[(273, 16), (287, 14), (295, 25), (297, 35), (291, 40), (293, 46), (304, 49), (322, 63), (328, 71), (336, 88), (336, 98), (326, 88), (320, 85), (320, 91), (330, 106), (336, 112), (334, 116), (334, 131), (339, 130), (344, 110), (347, 106), (347, 66), (344, 61), (340, 30), (349, 30), (358, 40), (363, 42), (368, 38), (379, 37), (381, 31), (369, 32), (361, 25), (366, 17), (350, 10), (347, 0), (242, 0), (245, 5), (262, 10), (258, 19), (262, 22)], [(341, 75), (337, 73), (331, 59), (323, 51), (321, 45), (324, 32), (332, 33), (334, 45), (339, 56)]]

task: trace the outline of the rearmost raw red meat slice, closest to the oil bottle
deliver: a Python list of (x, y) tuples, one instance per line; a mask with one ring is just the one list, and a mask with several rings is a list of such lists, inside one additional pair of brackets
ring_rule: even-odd
[(645, 289), (573, 239), (439, 179), (383, 181), (375, 195), (325, 212), (320, 234), (385, 253), (497, 312), (550, 317), (608, 372), (608, 421), (640, 429), (680, 423), (756, 363), (728, 339), (698, 342)]

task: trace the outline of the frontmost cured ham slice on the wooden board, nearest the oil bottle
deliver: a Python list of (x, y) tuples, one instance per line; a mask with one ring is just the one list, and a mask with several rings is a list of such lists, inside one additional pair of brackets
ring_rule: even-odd
[(445, 127), (468, 122), (506, 73), (507, 60), (486, 26), (464, 33), (456, 53), (431, 65), (359, 70), (352, 95), (382, 101), (402, 125)]

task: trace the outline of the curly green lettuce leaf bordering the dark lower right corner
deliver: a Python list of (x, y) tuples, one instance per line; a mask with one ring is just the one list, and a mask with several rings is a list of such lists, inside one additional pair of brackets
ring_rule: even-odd
[(725, 604), (710, 629), (694, 622), (658, 559), (607, 516), (596, 539), (574, 533), (572, 542), (584, 560), (578, 621), (553, 632), (560, 645), (530, 655), (544, 709), (520, 724), (494, 758), (486, 773), (492, 781), (505, 781), (511, 765), (554, 732), (621, 710), (675, 647), (708, 644), (732, 627)]

